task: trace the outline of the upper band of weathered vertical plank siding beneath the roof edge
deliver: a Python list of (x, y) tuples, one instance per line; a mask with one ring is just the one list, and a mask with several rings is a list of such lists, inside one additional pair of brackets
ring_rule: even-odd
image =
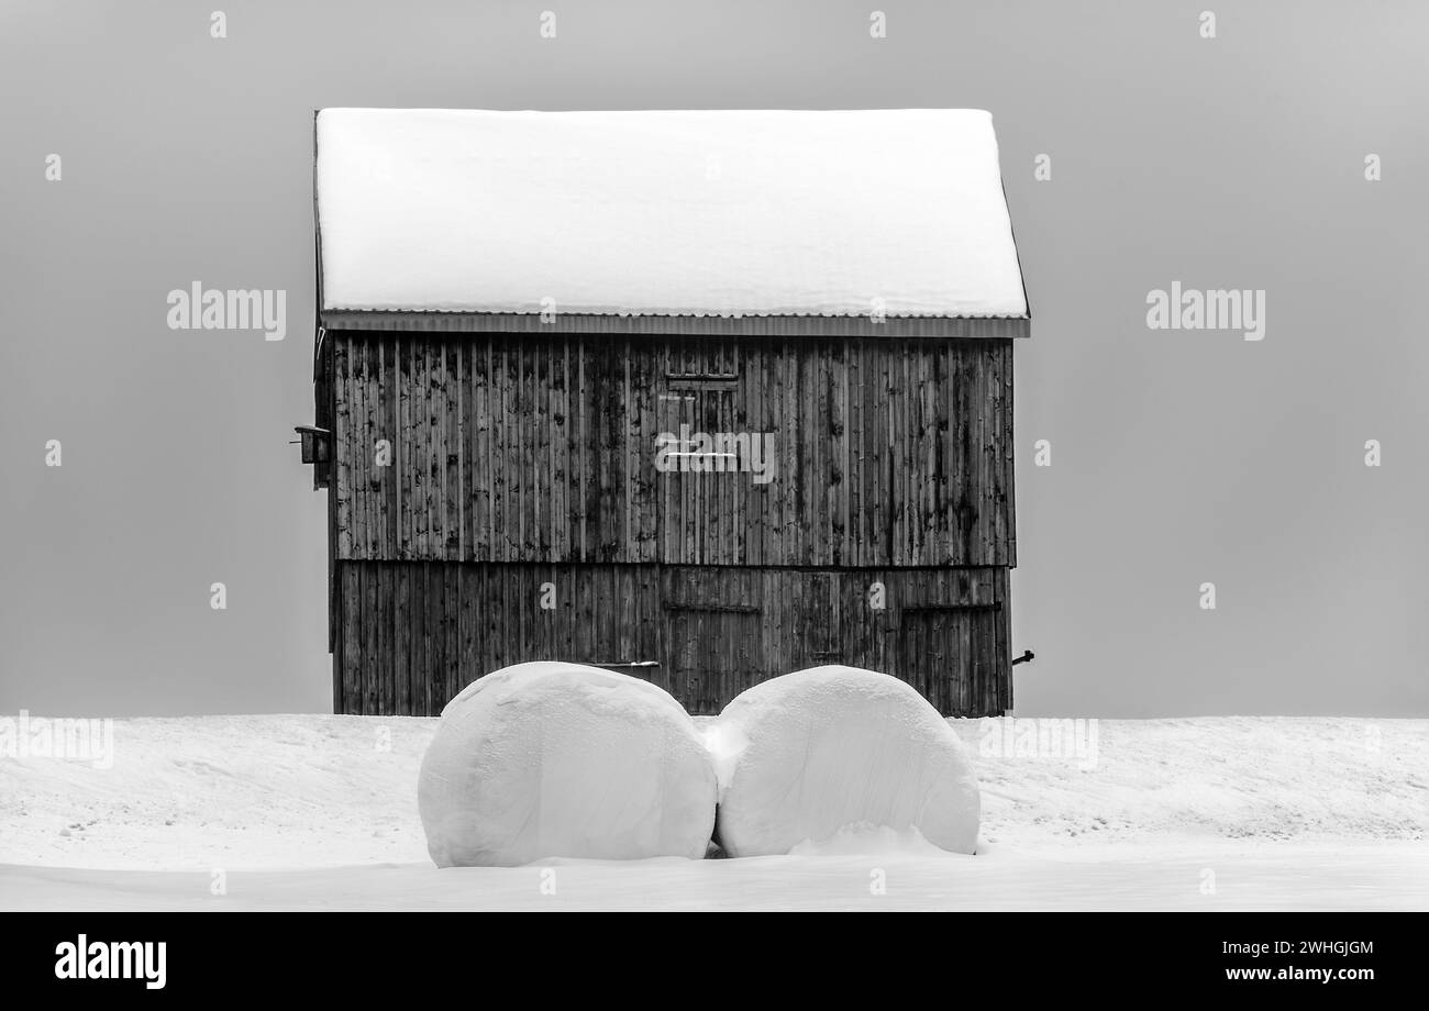
[[(327, 338), (339, 561), (1016, 564), (1010, 338)], [(775, 480), (657, 471), (682, 423)]]

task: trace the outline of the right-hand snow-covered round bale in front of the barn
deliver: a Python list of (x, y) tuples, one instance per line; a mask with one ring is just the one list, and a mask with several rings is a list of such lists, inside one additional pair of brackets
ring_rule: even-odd
[(739, 694), (707, 733), (716, 835), (732, 857), (785, 854), (849, 827), (916, 828), (973, 852), (972, 760), (927, 700), (857, 667), (813, 667)]

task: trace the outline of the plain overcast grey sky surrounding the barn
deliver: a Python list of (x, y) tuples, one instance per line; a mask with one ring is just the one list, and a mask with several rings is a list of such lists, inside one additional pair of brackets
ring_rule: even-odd
[[(993, 113), (1033, 308), (1019, 714), (1426, 715), (1426, 39), (1409, 1), (10, 0), (0, 711), (330, 710), (314, 109), (927, 106)], [(169, 330), (196, 280), (286, 288), (287, 340)], [(1265, 340), (1147, 330), (1172, 281), (1265, 290)]]

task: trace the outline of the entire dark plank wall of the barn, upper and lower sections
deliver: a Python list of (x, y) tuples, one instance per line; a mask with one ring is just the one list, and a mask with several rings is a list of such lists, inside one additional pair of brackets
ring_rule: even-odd
[[(1010, 340), (329, 340), (337, 711), (552, 657), (694, 713), (819, 663), (1010, 708)], [(682, 424), (775, 433), (775, 480), (656, 471)]]

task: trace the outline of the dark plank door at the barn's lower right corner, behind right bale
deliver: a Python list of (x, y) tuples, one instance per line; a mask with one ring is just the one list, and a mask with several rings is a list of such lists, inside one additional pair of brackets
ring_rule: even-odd
[(996, 713), (999, 608), (999, 604), (903, 608), (892, 673), (917, 688), (943, 715)]

